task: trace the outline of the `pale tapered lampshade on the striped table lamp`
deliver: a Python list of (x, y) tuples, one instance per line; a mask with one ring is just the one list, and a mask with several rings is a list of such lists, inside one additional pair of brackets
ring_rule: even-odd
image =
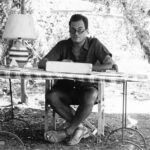
[(33, 18), (29, 14), (12, 14), (8, 17), (2, 36), (4, 39), (36, 39)]

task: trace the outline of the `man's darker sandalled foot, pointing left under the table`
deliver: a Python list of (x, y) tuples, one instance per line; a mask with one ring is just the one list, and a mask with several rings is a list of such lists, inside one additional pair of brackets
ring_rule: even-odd
[(67, 134), (66, 130), (60, 131), (48, 131), (44, 133), (44, 138), (46, 141), (51, 143), (58, 143), (64, 141), (69, 135)]

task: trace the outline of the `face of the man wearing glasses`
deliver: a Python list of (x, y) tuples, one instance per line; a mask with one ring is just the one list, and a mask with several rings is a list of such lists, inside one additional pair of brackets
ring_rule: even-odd
[(71, 22), (69, 32), (74, 43), (81, 43), (85, 40), (88, 34), (88, 29), (85, 29), (84, 22), (80, 20)]

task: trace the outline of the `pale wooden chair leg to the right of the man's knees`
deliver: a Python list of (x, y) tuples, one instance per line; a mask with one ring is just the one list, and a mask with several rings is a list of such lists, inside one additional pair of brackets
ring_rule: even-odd
[(104, 114), (104, 81), (98, 83), (98, 136), (104, 135), (105, 114)]

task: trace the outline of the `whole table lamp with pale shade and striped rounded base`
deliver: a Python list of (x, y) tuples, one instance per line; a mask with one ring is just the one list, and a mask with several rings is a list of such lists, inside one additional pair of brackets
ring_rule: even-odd
[(11, 62), (16, 61), (19, 67), (23, 67), (27, 62), (29, 53), (24, 40), (36, 39), (32, 16), (29, 14), (10, 15), (2, 38), (13, 40), (13, 45), (8, 51), (9, 59)]

